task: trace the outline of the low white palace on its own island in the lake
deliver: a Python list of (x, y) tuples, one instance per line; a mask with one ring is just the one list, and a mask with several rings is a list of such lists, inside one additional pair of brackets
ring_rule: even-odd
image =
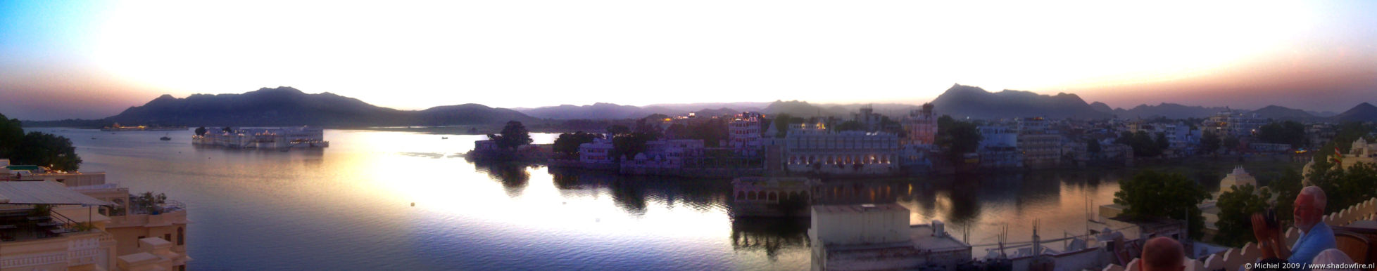
[(321, 128), (293, 127), (293, 128), (249, 128), (249, 129), (216, 129), (205, 135), (191, 136), (191, 144), (213, 146), (229, 149), (293, 149), (293, 147), (329, 147), (325, 132)]

